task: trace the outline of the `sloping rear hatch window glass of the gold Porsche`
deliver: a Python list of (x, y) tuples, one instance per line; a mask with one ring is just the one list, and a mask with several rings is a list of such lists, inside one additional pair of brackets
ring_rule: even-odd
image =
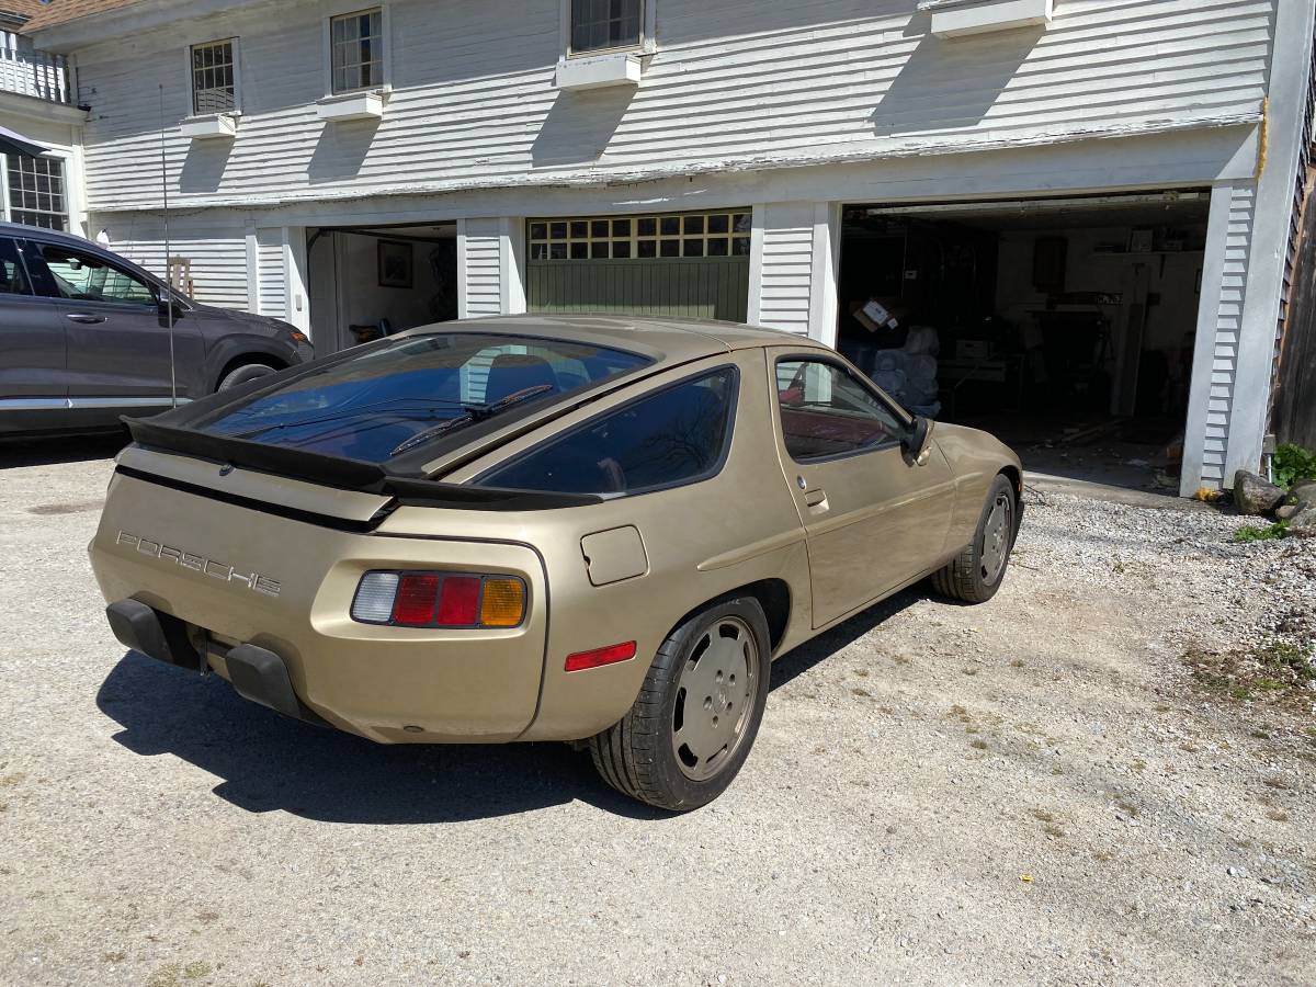
[(622, 350), (530, 336), (408, 336), (225, 405), (195, 428), (382, 463), (512, 408), (554, 403), (650, 362)]

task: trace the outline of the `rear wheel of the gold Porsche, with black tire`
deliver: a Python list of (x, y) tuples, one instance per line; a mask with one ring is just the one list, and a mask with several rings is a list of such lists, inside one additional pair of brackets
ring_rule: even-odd
[[(746, 680), (740, 687), (721, 684), (728, 680), (734, 683), (734, 674), (719, 672), (719, 687), (709, 690), (717, 697), (705, 696), (709, 705), (692, 697), (683, 682), (695, 680), (695, 670), (699, 669), (699, 684), (707, 684), (703, 676), (711, 674), (717, 663), (724, 659), (733, 665), (738, 662), (726, 655), (734, 651), (736, 644), (741, 644), (744, 650), (744, 642), (730, 637), (726, 633), (729, 628), (737, 633), (744, 629), (750, 636), (749, 644), (757, 649), (757, 669), (746, 674)], [(717, 634), (717, 651), (709, 644), (713, 633)], [(724, 645), (724, 641), (732, 644)], [(701, 667), (704, 658), (711, 665)], [(688, 812), (707, 805), (726, 790), (749, 757), (767, 704), (770, 665), (767, 620), (758, 600), (726, 600), (695, 615), (676, 628), (658, 649), (630, 712), (590, 738), (590, 753), (599, 774), (619, 792), (658, 808)], [(749, 667), (749, 658), (745, 667)], [(749, 682), (749, 678), (753, 680)], [(737, 701), (741, 703), (737, 720), (726, 719), (719, 730), (719, 717), (715, 713), (721, 711), (725, 716), (728, 711), (736, 709)], [(688, 745), (682, 746), (682, 753), (678, 753), (679, 734), (686, 728), (687, 705), (704, 712), (700, 721), (704, 724), (701, 729), (712, 736), (709, 745), (716, 745), (728, 729), (734, 732), (734, 741), (728, 741), (721, 754), (715, 753), (701, 765), (699, 755)], [(694, 719), (692, 715), (691, 724)], [(701, 776), (704, 771), (708, 771), (707, 776)]]

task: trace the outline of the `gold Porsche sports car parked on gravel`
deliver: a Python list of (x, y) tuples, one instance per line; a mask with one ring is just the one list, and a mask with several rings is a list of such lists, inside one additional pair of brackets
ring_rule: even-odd
[(769, 663), (926, 576), (980, 603), (1019, 458), (726, 322), (413, 329), (129, 421), (89, 551), (114, 636), (386, 744), (574, 741), (690, 809)]

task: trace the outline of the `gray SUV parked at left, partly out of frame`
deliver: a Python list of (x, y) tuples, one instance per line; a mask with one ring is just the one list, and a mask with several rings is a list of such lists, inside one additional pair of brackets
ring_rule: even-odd
[(0, 437), (114, 428), (313, 355), (278, 318), (199, 305), (80, 237), (0, 222)]

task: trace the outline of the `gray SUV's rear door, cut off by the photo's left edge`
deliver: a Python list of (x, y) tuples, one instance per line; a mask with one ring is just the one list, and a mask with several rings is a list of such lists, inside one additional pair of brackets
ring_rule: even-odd
[(0, 237), (0, 432), (62, 428), (68, 384), (54, 299), (33, 291), (24, 245)]

